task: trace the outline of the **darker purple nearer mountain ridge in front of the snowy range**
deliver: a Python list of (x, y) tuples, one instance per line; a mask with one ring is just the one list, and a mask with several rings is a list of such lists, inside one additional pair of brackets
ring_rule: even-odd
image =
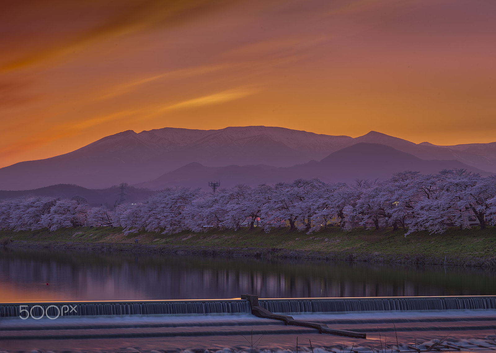
[(153, 190), (174, 186), (201, 187), (208, 189), (209, 181), (220, 180), (221, 187), (236, 184), (273, 184), (280, 181), (291, 182), (298, 178), (319, 178), (326, 182), (353, 182), (355, 179), (386, 179), (393, 173), (415, 170), (422, 173), (437, 173), (442, 169), (466, 168), (488, 175), (487, 172), (463, 164), (458, 160), (424, 160), (413, 154), (395, 150), (380, 144), (358, 143), (333, 152), (321, 161), (292, 167), (267, 165), (229, 165), (207, 167), (190, 163), (159, 178), (135, 185)]

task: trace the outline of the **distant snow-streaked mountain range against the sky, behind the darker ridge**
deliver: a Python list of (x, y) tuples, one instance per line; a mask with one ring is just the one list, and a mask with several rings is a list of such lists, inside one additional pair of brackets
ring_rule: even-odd
[(456, 159), (496, 172), (496, 143), (434, 146), (373, 131), (353, 139), (265, 126), (220, 130), (163, 128), (140, 133), (128, 130), (66, 154), (0, 168), (0, 189), (26, 190), (55, 184), (102, 189), (122, 182), (138, 184), (192, 162), (209, 167), (290, 167), (320, 160), (357, 142), (390, 146), (426, 160)]

